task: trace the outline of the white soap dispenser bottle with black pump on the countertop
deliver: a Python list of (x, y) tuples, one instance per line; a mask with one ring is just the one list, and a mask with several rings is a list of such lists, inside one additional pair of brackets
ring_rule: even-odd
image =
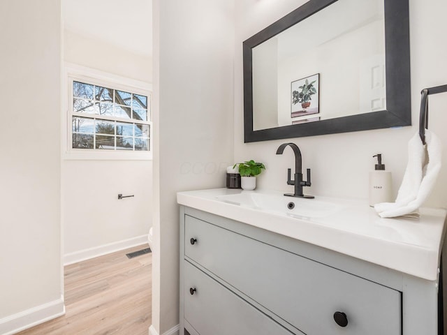
[(369, 172), (369, 206), (380, 202), (392, 202), (393, 192), (391, 190), (391, 172), (385, 171), (385, 164), (382, 164), (382, 155), (376, 154), (377, 164), (374, 171)]

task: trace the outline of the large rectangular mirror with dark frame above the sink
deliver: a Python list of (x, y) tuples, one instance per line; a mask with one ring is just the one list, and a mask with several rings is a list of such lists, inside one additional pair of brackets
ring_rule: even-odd
[(411, 125), (408, 0), (310, 0), (243, 61), (244, 142)]

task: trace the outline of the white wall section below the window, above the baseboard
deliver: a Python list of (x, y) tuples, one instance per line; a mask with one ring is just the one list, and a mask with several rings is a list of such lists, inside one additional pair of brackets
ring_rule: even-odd
[[(66, 160), (62, 166), (66, 262), (102, 253), (106, 244), (142, 243), (137, 237), (152, 222), (152, 161)], [(118, 200), (118, 193), (135, 197)], [(96, 251), (86, 253), (91, 248)]]

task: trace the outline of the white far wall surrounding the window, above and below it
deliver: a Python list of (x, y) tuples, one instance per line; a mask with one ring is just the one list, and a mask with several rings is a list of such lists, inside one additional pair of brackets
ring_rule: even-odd
[[(103, 71), (118, 83), (119, 77), (147, 87), (152, 82), (151, 57), (67, 30), (64, 61), (92, 68), (95, 75)], [(63, 94), (68, 94), (65, 87)], [(144, 235), (152, 225), (152, 161), (63, 159), (61, 181), (66, 263), (147, 241)], [(118, 193), (135, 197), (117, 200)]]

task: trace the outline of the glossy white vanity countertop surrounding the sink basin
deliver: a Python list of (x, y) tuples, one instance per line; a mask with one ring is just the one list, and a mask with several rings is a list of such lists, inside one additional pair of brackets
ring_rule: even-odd
[(367, 202), (316, 197), (342, 209), (324, 217), (298, 218), (217, 198), (241, 192), (258, 191), (228, 188), (186, 191), (177, 193), (177, 202), (405, 274), (437, 280), (446, 209), (422, 208), (420, 218), (381, 218)]

